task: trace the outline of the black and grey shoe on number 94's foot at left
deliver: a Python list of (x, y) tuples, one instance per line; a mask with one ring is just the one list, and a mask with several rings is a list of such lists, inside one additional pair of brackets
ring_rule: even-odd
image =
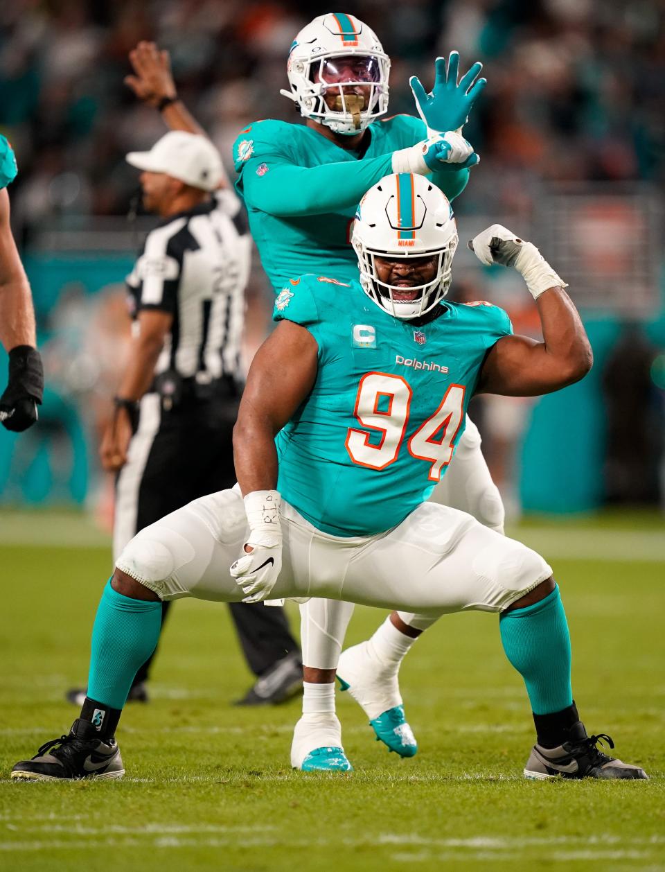
[(76, 781), (83, 778), (122, 778), (120, 750), (115, 739), (99, 739), (89, 720), (78, 718), (69, 735), (51, 739), (32, 760), (21, 760), (11, 777), (23, 781)]

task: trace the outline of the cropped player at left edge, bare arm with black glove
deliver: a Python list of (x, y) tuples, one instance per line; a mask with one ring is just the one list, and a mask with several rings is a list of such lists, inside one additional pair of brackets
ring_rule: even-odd
[(30, 285), (11, 235), (7, 186), (16, 174), (14, 152), (0, 135), (0, 342), (10, 357), (9, 382), (0, 396), (0, 421), (8, 430), (20, 432), (37, 420), (44, 370), (37, 351)]

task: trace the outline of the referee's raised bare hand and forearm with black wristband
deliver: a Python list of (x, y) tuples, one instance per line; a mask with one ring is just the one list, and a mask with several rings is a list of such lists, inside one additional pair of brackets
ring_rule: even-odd
[(126, 76), (125, 84), (132, 88), (139, 100), (156, 109), (165, 101), (159, 112), (171, 130), (207, 136), (187, 106), (178, 99), (168, 51), (159, 51), (154, 43), (143, 41), (129, 52), (129, 59), (135, 75)]

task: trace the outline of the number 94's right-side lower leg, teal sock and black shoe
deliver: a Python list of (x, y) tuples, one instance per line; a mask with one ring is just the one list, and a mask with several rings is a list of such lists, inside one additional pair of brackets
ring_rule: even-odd
[(566, 612), (552, 578), (505, 610), (499, 622), (506, 657), (526, 685), (537, 740), (526, 762), (526, 778), (645, 779), (631, 766), (602, 753), (605, 734), (587, 736), (573, 701), (571, 649)]

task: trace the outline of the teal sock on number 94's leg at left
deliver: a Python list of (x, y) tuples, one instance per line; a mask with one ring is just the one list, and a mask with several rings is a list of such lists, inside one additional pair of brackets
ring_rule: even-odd
[(121, 709), (139, 667), (157, 646), (160, 628), (161, 601), (119, 594), (109, 579), (92, 627), (88, 697)]

